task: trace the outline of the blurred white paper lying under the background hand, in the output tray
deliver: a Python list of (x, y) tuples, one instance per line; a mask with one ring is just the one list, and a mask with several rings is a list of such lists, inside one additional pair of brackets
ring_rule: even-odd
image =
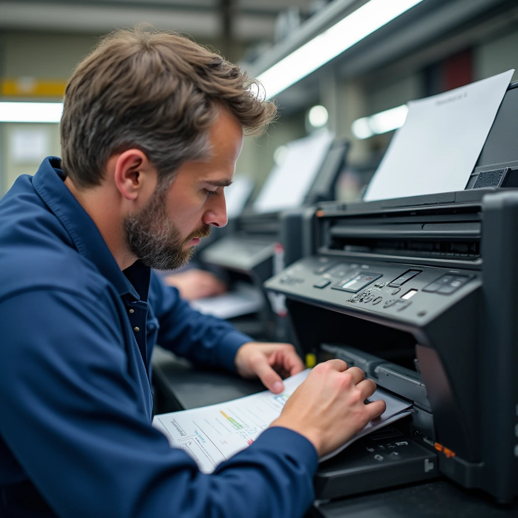
[(233, 291), (215, 297), (192, 300), (191, 307), (205, 315), (232, 319), (260, 311), (264, 305), (263, 294), (254, 286), (238, 283)]

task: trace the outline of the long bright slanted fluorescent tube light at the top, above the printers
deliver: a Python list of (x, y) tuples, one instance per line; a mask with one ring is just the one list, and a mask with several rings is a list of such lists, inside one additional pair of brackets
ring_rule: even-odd
[(370, 0), (258, 76), (266, 98), (286, 90), (422, 1)]

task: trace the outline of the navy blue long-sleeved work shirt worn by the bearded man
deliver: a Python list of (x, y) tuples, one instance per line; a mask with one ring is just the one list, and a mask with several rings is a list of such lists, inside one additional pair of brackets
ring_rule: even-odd
[(154, 343), (233, 369), (251, 339), (122, 272), (59, 167), (0, 201), (0, 516), (302, 516), (318, 459), (294, 431), (207, 475), (152, 428)]

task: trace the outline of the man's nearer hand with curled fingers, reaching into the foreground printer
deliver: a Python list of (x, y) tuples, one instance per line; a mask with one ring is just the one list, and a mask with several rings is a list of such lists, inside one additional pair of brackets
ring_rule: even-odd
[(376, 383), (362, 369), (332, 359), (313, 368), (286, 401), (271, 426), (290, 428), (313, 443), (320, 457), (336, 450), (386, 408), (383, 400), (365, 404)]

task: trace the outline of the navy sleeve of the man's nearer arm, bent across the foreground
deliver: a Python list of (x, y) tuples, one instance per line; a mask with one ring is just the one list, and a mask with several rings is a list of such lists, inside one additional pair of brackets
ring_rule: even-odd
[(265, 431), (210, 475), (151, 427), (109, 301), (61, 291), (0, 301), (0, 435), (59, 516), (303, 516), (317, 457)]

